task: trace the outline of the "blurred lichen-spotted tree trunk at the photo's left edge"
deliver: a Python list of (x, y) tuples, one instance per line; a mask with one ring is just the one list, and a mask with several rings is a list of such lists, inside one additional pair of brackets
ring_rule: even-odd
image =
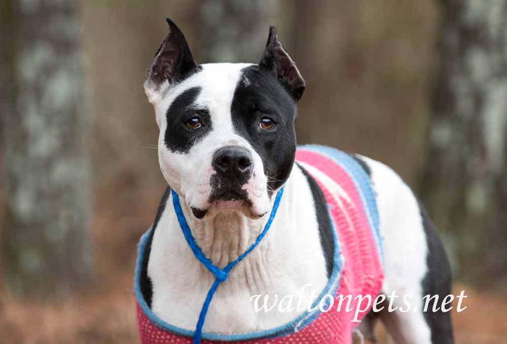
[(78, 0), (2, 0), (7, 283), (61, 297), (89, 277)]

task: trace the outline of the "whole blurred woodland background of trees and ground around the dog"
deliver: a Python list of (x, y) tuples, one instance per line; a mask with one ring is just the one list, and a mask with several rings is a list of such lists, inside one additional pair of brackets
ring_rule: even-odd
[(166, 17), (198, 63), (257, 63), (275, 25), (307, 84), (298, 143), (396, 170), (468, 296), (456, 341), (504, 342), (507, 0), (0, 0), (0, 341), (138, 342), (136, 243), (166, 186), (142, 83)]

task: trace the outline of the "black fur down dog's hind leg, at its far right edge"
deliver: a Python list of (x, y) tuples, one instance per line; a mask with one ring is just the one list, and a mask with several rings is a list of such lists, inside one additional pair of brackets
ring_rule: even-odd
[[(426, 258), (428, 272), (422, 281), (422, 292), (423, 296), (428, 294), (430, 297), (439, 295), (438, 302), (441, 304), (443, 298), (451, 294), (451, 269), (437, 230), (419, 199), (418, 202), (428, 245)], [(426, 319), (426, 323), (431, 329), (431, 342), (434, 344), (452, 344), (454, 339), (451, 315), (449, 312), (442, 312), (442, 309), (433, 313), (433, 304), (434, 298), (428, 302), (427, 312), (424, 312), (424, 319)]]

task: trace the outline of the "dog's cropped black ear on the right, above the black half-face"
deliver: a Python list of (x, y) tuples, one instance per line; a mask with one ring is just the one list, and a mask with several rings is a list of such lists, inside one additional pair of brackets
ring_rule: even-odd
[(305, 81), (296, 67), (296, 63), (291, 56), (283, 48), (278, 36), (276, 28), (269, 28), (268, 43), (264, 56), (259, 62), (261, 70), (271, 72), (275, 78), (287, 89), (287, 91), (298, 101), (305, 90)]

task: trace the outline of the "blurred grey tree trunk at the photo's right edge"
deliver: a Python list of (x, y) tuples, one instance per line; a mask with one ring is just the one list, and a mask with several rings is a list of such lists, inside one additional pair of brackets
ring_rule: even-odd
[(422, 192), (447, 231), (458, 276), (505, 284), (507, 0), (439, 3), (441, 66)]

